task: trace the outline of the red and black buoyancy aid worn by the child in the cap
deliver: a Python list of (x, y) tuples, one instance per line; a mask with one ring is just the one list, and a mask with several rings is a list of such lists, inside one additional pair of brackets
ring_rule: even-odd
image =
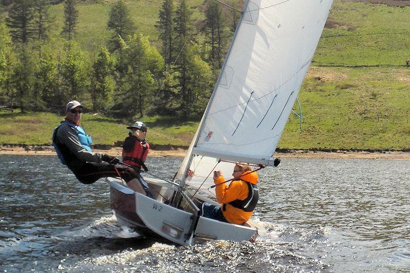
[(147, 159), (150, 145), (145, 140), (139, 141), (136, 136), (128, 136), (122, 145), (122, 162), (137, 168), (148, 168), (144, 162)]

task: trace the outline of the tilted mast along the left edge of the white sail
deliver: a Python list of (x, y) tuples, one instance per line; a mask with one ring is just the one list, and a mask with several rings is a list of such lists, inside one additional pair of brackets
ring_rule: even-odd
[[(243, 16), (244, 16), (244, 14), (245, 14), (245, 11), (246, 11), (247, 8), (248, 8), (249, 1), (250, 1), (250, 0), (247, 0), (247, 2), (245, 3), (245, 6), (243, 7), (242, 14), (241, 14), (240, 19), (239, 19), (239, 22), (238, 22), (238, 26), (236, 27), (235, 32), (234, 32), (234, 35), (233, 35), (233, 37), (232, 37), (231, 45), (229, 46), (228, 53), (227, 53), (227, 55), (226, 55), (226, 57), (225, 57), (225, 60), (223, 61), (222, 68), (221, 68), (221, 70), (219, 71), (218, 80), (217, 80), (216, 83), (215, 83), (215, 87), (214, 87), (214, 90), (212, 91), (212, 94), (211, 94), (211, 97), (210, 97), (210, 99), (209, 99), (207, 108), (205, 109), (205, 112), (203, 113), (202, 118), (201, 118), (201, 121), (200, 121), (200, 123), (199, 123), (198, 129), (196, 130), (195, 140), (193, 140), (193, 145), (192, 145), (193, 148), (195, 148), (195, 147), (196, 147), (196, 144), (198, 143), (199, 135), (200, 135), (200, 132), (201, 132), (201, 130), (202, 130), (202, 128), (203, 128), (203, 121), (205, 120), (205, 117), (207, 116), (207, 114), (208, 114), (208, 112), (209, 112), (211, 103), (212, 103), (212, 101), (213, 101), (213, 99), (214, 99), (214, 96), (215, 96), (215, 92), (216, 92), (216, 90), (218, 89), (218, 85), (219, 85), (219, 82), (220, 82), (220, 80), (221, 80), (221, 77), (222, 77), (222, 74), (223, 74), (223, 70), (225, 69), (225, 66), (226, 66), (226, 64), (227, 64), (227, 61), (228, 61), (228, 59), (229, 59), (228, 57), (229, 57), (229, 55), (231, 54), (231, 50), (232, 50), (232, 47), (233, 47), (233, 44), (234, 44), (236, 35), (237, 35), (237, 33), (238, 33), (238, 31), (239, 31), (239, 28), (240, 28), (240, 26), (241, 26), (241, 24), (242, 24), (242, 19), (243, 19)], [(191, 163), (192, 163), (193, 157), (194, 157), (194, 155), (193, 155), (193, 152), (192, 152), (192, 150), (191, 150), (191, 153), (190, 153), (189, 159), (188, 159), (188, 163), (187, 163), (187, 165), (185, 166), (185, 170), (184, 170), (183, 173), (182, 173), (182, 179), (181, 179), (181, 181), (180, 181), (180, 183), (179, 183), (179, 186), (180, 186), (180, 187), (183, 187), (183, 185), (185, 185), (185, 181), (186, 181), (186, 179), (187, 179), (187, 172), (188, 172), (189, 168), (191, 167)]]

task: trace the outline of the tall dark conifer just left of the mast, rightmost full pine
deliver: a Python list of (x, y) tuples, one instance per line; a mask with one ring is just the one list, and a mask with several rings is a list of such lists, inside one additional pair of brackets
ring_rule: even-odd
[(225, 19), (219, 3), (208, 2), (206, 12), (206, 32), (210, 38), (210, 62), (215, 69), (222, 67), (226, 39), (224, 37)]

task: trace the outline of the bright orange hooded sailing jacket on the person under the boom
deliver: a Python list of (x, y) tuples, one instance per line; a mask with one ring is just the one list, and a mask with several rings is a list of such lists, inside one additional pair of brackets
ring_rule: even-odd
[[(215, 184), (219, 184), (224, 181), (225, 179), (222, 175), (214, 179)], [(256, 171), (246, 171), (241, 177), (241, 180), (232, 181), (229, 186), (227, 184), (221, 184), (215, 188), (216, 199), (218, 203), (223, 204), (221, 208), (223, 217), (225, 217), (225, 219), (227, 219), (227, 221), (231, 224), (242, 225), (251, 218), (253, 213), (253, 211), (247, 212), (229, 204), (232, 201), (244, 200), (248, 197), (248, 183), (245, 181), (256, 185), (258, 182), (258, 174)]]

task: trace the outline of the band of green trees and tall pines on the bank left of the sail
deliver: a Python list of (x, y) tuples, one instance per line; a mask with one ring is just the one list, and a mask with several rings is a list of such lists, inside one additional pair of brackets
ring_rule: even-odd
[[(164, 0), (156, 47), (138, 32), (124, 0), (117, 0), (107, 22), (110, 37), (87, 54), (75, 42), (76, 0), (0, 1), (0, 106), (61, 112), (75, 99), (121, 118), (197, 119), (240, 15), (207, 0), (204, 19), (195, 21), (186, 0)], [(50, 7), (61, 2), (64, 18), (55, 18)], [(56, 34), (51, 29), (57, 19), (64, 26)]]

